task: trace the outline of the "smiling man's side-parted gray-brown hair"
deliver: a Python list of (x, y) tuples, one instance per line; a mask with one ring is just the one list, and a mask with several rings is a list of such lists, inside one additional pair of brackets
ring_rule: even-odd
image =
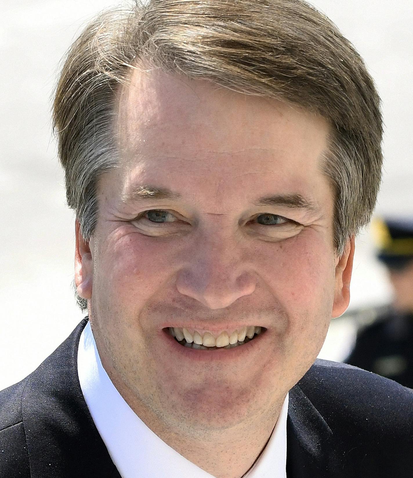
[(329, 120), (323, 167), (335, 191), (336, 250), (342, 253), (368, 222), (381, 175), (380, 98), (335, 25), (302, 0), (149, 0), (91, 22), (73, 43), (57, 86), (54, 125), (67, 202), (85, 239), (97, 220), (99, 177), (118, 161), (117, 93), (140, 59)]

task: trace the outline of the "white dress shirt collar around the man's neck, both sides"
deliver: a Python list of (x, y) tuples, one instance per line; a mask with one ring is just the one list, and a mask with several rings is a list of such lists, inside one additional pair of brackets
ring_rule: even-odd
[[(80, 387), (90, 414), (122, 478), (213, 478), (179, 455), (124, 401), (100, 362), (90, 323), (78, 348)], [(245, 478), (286, 478), (288, 395), (263, 452)]]

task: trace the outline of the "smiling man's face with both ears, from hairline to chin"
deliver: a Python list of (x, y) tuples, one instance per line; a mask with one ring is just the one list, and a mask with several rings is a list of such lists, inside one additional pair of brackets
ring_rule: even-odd
[[(100, 180), (89, 245), (78, 233), (78, 292), (103, 365), (135, 410), (168, 425), (254, 420), (284, 400), (348, 302), (351, 251), (335, 255), (321, 172), (328, 125), (152, 71), (121, 95), (119, 129), (123, 159)], [(171, 327), (219, 345), (262, 332), (199, 349)]]

